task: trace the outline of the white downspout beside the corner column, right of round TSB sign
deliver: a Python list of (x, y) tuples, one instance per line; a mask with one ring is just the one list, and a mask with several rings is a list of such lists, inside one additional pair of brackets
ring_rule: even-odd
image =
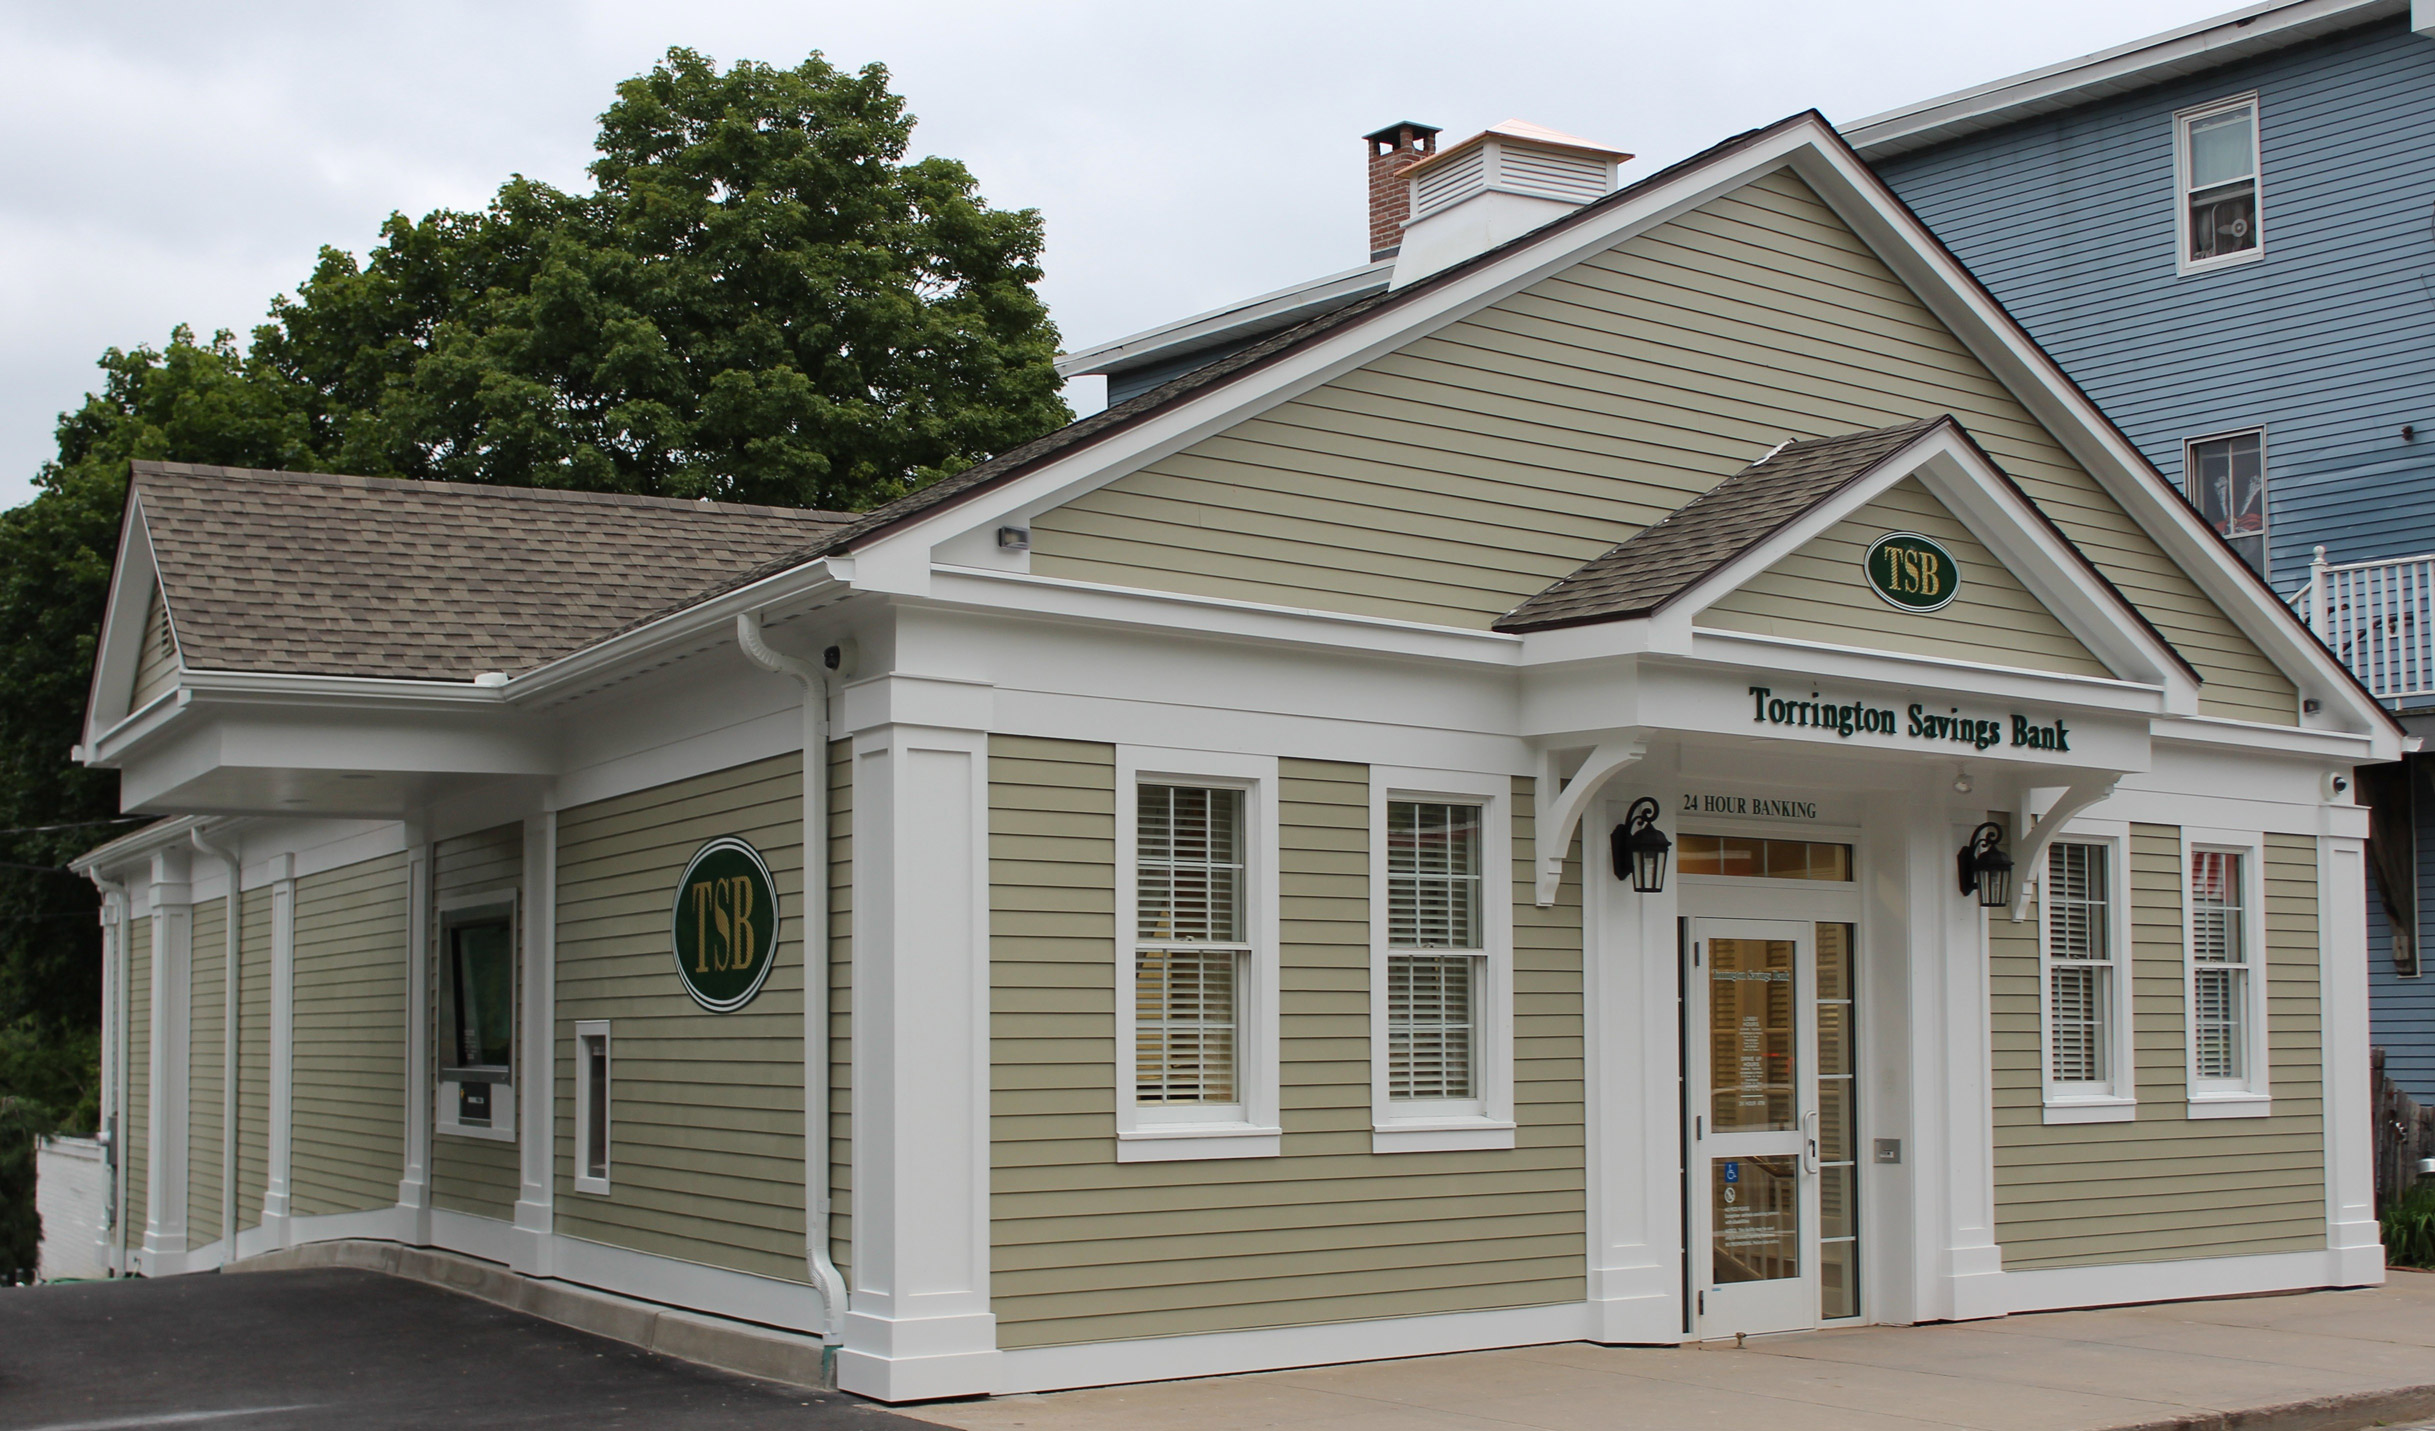
[[(769, 650), (760, 613), (735, 616), (735, 645), (765, 672), (804, 684), (804, 1256), (821, 1295), (821, 1373), (835, 1385), (845, 1329), (845, 1278), (828, 1256), (828, 677)], [(818, 959), (813, 959), (818, 949)]]

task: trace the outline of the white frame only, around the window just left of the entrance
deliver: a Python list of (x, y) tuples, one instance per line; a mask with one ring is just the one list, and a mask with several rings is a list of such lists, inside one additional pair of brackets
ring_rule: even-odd
[[(1473, 991), (1478, 1098), (1388, 1098), (1386, 808), (1439, 801), (1480, 808), (1480, 981)], [(1371, 767), (1371, 1151), (1515, 1146), (1515, 842), (1512, 781), (1498, 774)]]

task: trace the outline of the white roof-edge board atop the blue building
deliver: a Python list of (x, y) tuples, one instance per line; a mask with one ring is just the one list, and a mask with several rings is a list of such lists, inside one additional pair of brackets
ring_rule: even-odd
[(1885, 110), (1855, 119), (1843, 134), (1865, 158), (1890, 158), (2016, 119), (2053, 114), (2087, 100), (2228, 66), (2252, 54), (2408, 10), (2408, 0), (2267, 0), (2148, 39)]

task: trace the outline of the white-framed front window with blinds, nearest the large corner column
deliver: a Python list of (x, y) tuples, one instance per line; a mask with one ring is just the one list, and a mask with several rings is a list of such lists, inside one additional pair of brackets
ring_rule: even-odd
[(1118, 1158), (1276, 1154), (1274, 762), (1118, 767)]

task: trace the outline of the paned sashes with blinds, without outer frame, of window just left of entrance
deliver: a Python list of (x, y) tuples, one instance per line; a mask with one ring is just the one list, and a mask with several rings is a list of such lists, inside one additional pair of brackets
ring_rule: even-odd
[(1478, 1098), (1480, 808), (1388, 801), (1388, 1098)]

